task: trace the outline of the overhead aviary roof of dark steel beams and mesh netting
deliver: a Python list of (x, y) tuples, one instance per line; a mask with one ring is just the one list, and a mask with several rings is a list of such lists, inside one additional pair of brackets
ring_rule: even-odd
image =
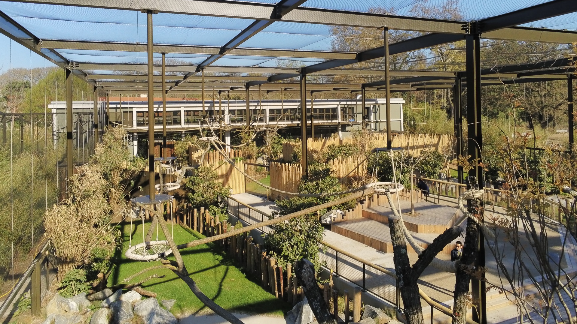
[[(141, 9), (158, 10), (153, 15), (155, 91), (162, 89), (161, 52), (167, 59), (167, 89), (173, 92), (199, 91), (201, 71), (204, 86), (221, 92), (257, 85), (263, 91), (290, 90), (298, 88), (295, 78), (301, 74), (309, 76), (307, 88), (313, 92), (382, 91), (382, 70), (354, 64), (382, 59), (384, 47), (333, 51), (336, 37), (343, 37), (331, 32), (334, 26), (415, 32), (413, 38), (392, 42), (391, 55), (458, 42), (469, 33), (485, 39), (577, 42), (574, 0), (452, 4), (460, 21), (419, 17), (413, 10), (415, 5), (440, 8), (447, 0), (0, 0), (0, 32), (114, 93), (146, 89), (147, 20)], [(565, 58), (493, 67), (482, 71), (482, 84), (562, 80), (574, 72), (571, 65)], [(355, 75), (376, 81), (333, 78)], [(393, 70), (391, 91), (419, 90), (425, 84), (449, 88), (456, 75)]]

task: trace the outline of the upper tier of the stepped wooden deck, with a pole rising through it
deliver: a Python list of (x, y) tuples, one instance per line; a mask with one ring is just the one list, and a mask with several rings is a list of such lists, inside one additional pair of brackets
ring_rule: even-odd
[[(411, 210), (410, 201), (401, 200), (400, 208), (403, 212), (404, 225), (409, 231), (415, 233), (443, 233), (445, 229), (454, 225), (456, 218), (459, 216), (458, 209), (426, 201), (415, 203), (416, 216), (407, 214)], [(388, 218), (392, 215), (393, 212), (388, 205), (373, 205), (363, 209), (362, 212), (363, 217), (384, 224), (389, 223)]]

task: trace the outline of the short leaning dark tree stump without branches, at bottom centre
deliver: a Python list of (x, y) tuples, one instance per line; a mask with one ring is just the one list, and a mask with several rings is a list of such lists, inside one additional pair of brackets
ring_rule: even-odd
[(297, 278), (301, 281), (302, 289), (305, 292), (306, 299), (309, 300), (310, 308), (313, 310), (314, 317), (319, 324), (334, 324), (335, 319), (331, 318), (331, 312), (323, 298), (323, 293), (314, 277), (314, 265), (307, 259), (297, 262)]

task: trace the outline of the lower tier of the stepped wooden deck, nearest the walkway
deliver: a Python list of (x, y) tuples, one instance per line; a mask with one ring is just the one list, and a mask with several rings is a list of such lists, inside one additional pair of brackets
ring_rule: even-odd
[[(368, 218), (343, 221), (332, 224), (331, 232), (346, 236), (347, 238), (363, 243), (366, 246), (370, 246), (384, 253), (393, 252), (389, 225), (380, 223), (379, 221), (370, 220)], [(411, 232), (411, 234), (417, 243), (423, 248), (427, 248), (429, 243), (433, 242), (434, 238), (437, 236), (436, 234), (428, 233), (423, 234)], [(455, 244), (447, 244), (441, 253), (450, 254), (451, 250), (454, 248)], [(407, 251), (409, 251), (409, 253), (416, 253), (409, 247), (409, 244), (407, 244)]]

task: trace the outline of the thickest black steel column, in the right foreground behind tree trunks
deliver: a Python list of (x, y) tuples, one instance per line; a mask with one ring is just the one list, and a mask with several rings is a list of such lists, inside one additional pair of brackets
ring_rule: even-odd
[[(481, 57), (479, 34), (475, 33), (476, 25), (472, 26), (473, 31), (465, 37), (466, 43), (466, 77), (467, 77), (467, 149), (469, 150), (470, 161), (477, 166), (469, 170), (469, 176), (476, 176), (479, 186), (483, 186), (483, 169), (478, 165), (481, 162)], [(481, 220), (482, 221), (482, 220)], [(477, 266), (485, 266), (485, 238), (483, 232), (479, 231)], [(485, 274), (481, 273), (481, 278), (471, 278), (471, 295), (473, 296), (473, 321), (479, 324), (486, 324), (486, 303), (485, 303)]]

